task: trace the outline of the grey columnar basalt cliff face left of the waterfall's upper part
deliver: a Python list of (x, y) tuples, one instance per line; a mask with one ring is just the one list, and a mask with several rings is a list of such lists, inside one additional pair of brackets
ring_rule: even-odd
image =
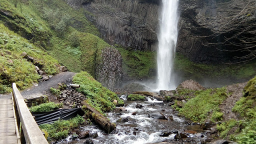
[(160, 0), (66, 0), (92, 14), (86, 17), (109, 43), (138, 50), (157, 48), (156, 27)]

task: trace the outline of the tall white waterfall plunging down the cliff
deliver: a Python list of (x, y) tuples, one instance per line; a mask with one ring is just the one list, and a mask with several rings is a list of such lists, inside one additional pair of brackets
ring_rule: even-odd
[(177, 7), (178, 0), (162, 0), (157, 51), (157, 90), (176, 88), (172, 67), (177, 41)]

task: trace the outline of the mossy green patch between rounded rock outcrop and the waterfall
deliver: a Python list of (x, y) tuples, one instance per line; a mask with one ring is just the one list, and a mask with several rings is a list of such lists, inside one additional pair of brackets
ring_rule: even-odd
[(126, 50), (117, 46), (122, 56), (122, 69), (125, 75), (132, 78), (155, 76), (156, 52)]

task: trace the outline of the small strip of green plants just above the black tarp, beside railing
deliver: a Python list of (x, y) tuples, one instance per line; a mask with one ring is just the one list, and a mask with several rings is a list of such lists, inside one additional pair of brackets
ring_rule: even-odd
[(42, 103), (40, 105), (31, 106), (29, 109), (32, 112), (45, 112), (45, 111), (53, 111), (60, 107), (62, 107), (62, 103), (54, 103), (54, 102), (48, 102), (48, 103)]

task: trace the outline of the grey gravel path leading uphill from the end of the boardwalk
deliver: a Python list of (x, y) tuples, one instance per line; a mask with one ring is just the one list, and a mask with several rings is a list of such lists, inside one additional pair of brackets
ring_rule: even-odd
[[(44, 94), (44, 92), (49, 89), (50, 87), (56, 86), (59, 82), (64, 82), (68, 78), (71, 78), (75, 72), (60, 72), (56, 75), (53, 75), (49, 80), (47, 81), (41, 81), (38, 83), (38, 86), (32, 86), (28, 89), (20, 91), (21, 95), (24, 98), (28, 97), (34, 97), (34, 96), (41, 96)], [(11, 94), (2, 94), (0, 95), (0, 99), (11, 99)]]

